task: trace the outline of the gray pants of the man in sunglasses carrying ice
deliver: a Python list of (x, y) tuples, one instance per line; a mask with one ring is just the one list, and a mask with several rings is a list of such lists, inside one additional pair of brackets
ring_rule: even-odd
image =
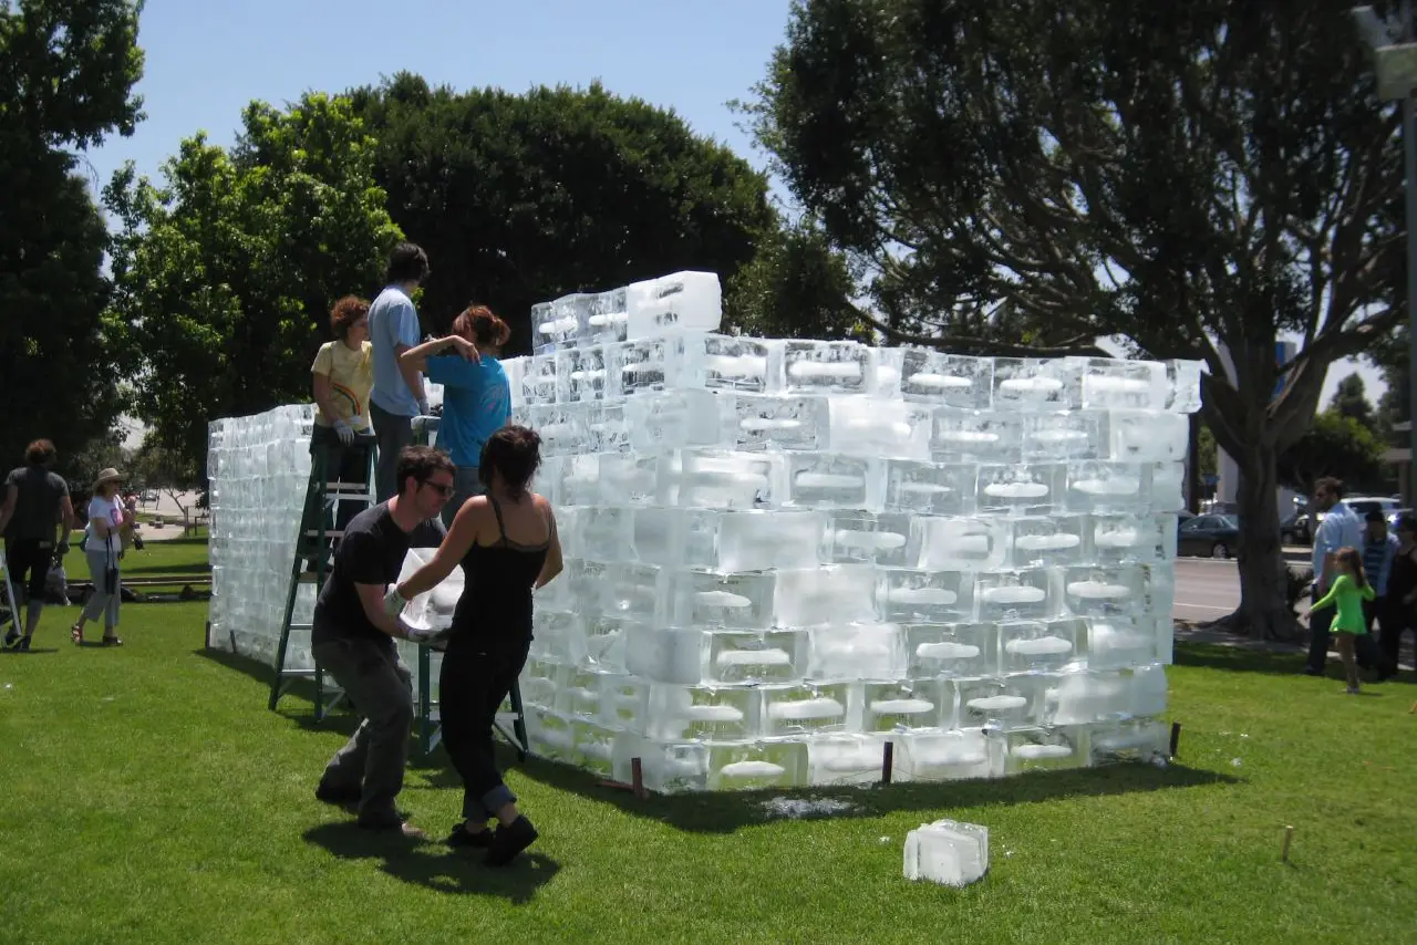
[(414, 723), (414, 680), (394, 642), (344, 639), (316, 643), (313, 655), (334, 677), (363, 721), (324, 766), (320, 791), (359, 796), (360, 826), (402, 822), (394, 798), (404, 788), (408, 732)]

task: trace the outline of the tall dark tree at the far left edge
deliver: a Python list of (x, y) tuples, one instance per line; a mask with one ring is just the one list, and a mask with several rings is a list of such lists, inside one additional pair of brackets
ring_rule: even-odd
[(0, 462), (112, 429), (118, 375), (101, 327), (108, 235), (72, 149), (142, 118), (136, 3), (0, 0)]

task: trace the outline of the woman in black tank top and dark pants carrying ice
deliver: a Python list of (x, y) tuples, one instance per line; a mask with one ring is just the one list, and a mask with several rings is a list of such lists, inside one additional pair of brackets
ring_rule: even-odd
[(463, 503), (432, 561), (398, 585), (411, 599), (459, 564), (466, 575), (438, 680), (442, 740), (463, 782), (463, 822), (448, 844), (486, 847), (489, 866), (509, 863), (537, 837), (497, 771), (492, 728), (531, 646), (531, 592), (561, 572), (551, 503), (527, 489), (540, 445), (526, 426), (487, 438), (478, 466), (487, 493)]

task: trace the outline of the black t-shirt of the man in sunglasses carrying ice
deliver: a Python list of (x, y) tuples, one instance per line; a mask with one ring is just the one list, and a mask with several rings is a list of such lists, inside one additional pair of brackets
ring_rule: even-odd
[(438, 519), (429, 519), (415, 526), (412, 531), (404, 531), (394, 521), (387, 502), (354, 516), (334, 550), (334, 567), (315, 602), (315, 629), (310, 642), (388, 640), (390, 636), (370, 623), (364, 615), (364, 605), (354, 585), (393, 584), (398, 579), (410, 548), (435, 548), (442, 544), (445, 534), (444, 524)]

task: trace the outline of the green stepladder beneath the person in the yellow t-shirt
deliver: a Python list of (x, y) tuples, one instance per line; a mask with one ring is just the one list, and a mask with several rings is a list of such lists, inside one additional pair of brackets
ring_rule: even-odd
[[(310, 451), (310, 479), (305, 487), (305, 511), (300, 513), (300, 531), (295, 541), (295, 560), (290, 562), (290, 582), (285, 595), (285, 616), (281, 619), (281, 645), (275, 655), (275, 679), (271, 680), (269, 708), (275, 711), (281, 697), (289, 691), (299, 679), (315, 680), (315, 718), (320, 721), (344, 697), (344, 690), (329, 687), (329, 701), (326, 701), (326, 677), (315, 655), (310, 655), (313, 669), (290, 669), (286, 666), (289, 656), (290, 632), (309, 633), (313, 623), (295, 623), (295, 604), (300, 594), (300, 585), (313, 584), (316, 594), (324, 587), (326, 564), (330, 561), (330, 551), (326, 540), (339, 541), (343, 531), (327, 527), (327, 520), (339, 513), (340, 503), (354, 502), (366, 509), (374, 504), (374, 446), (368, 446), (366, 459), (364, 482), (330, 482), (327, 476), (327, 452), (320, 446)], [(307, 554), (309, 553), (309, 554)], [(303, 565), (306, 558), (315, 560), (315, 570), (307, 571)]]

